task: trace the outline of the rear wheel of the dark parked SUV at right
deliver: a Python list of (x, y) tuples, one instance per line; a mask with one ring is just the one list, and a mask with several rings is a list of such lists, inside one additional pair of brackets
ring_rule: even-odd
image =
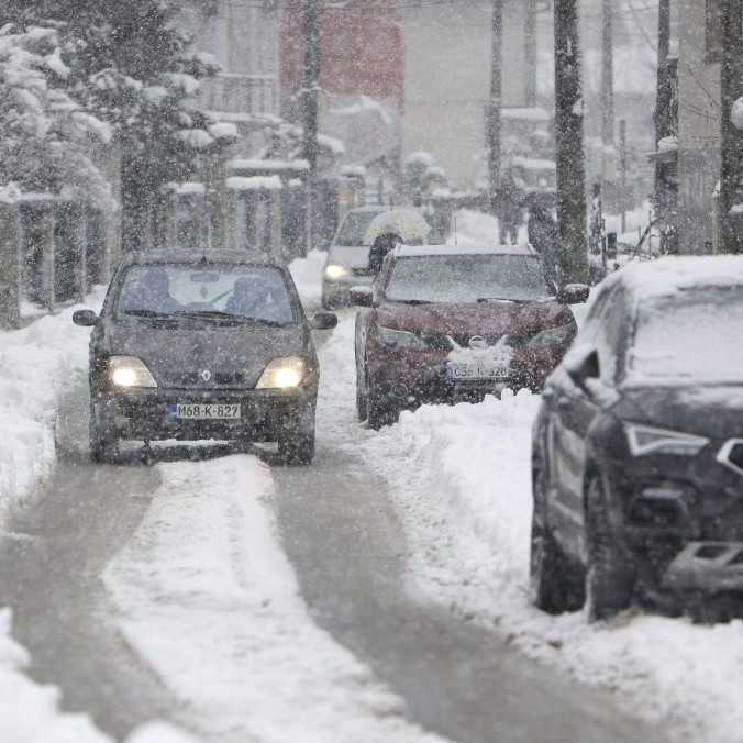
[(583, 603), (580, 580), (555, 540), (546, 513), (544, 470), (533, 473), (534, 510), (532, 512), (529, 559), (530, 594), (537, 609), (551, 614), (577, 610)]

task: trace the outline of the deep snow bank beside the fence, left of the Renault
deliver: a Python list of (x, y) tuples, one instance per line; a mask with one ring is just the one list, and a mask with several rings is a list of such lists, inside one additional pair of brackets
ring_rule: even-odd
[[(98, 307), (102, 297), (98, 288), (88, 306)], [(48, 475), (59, 392), (88, 368), (88, 333), (73, 324), (76, 309), (0, 331), (0, 529)]]

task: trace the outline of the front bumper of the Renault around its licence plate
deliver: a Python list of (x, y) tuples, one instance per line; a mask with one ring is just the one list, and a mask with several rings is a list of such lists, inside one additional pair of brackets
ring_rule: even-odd
[[(96, 397), (99, 424), (119, 439), (277, 441), (279, 432), (314, 429), (317, 388), (295, 390), (137, 389)], [(240, 404), (230, 420), (182, 420), (168, 411), (177, 403)]]

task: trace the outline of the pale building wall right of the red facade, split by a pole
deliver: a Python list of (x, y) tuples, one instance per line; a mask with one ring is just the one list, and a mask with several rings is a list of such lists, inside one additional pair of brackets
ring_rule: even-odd
[[(408, 3), (404, 16), (403, 155), (433, 154), (458, 186), (473, 184), (485, 151), (490, 90), (490, 3)], [(503, 106), (525, 106), (524, 0), (506, 0)]]

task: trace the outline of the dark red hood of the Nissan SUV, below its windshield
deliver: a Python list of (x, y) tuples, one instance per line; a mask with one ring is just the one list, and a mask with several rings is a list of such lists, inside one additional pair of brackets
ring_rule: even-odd
[(378, 310), (380, 325), (436, 335), (533, 335), (575, 322), (573, 312), (555, 302), (488, 302), (483, 304), (402, 304)]

